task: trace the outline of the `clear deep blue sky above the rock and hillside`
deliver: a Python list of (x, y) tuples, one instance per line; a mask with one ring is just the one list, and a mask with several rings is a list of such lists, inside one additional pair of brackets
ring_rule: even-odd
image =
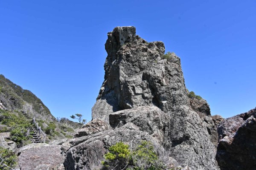
[(186, 87), (212, 115), (256, 107), (255, 0), (1, 0), (0, 74), (55, 117), (91, 119), (107, 33), (135, 26), (180, 58)]

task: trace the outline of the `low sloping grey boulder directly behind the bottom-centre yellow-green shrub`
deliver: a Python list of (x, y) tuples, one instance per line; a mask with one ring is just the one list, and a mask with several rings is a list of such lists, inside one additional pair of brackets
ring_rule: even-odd
[(125, 142), (131, 149), (140, 143), (141, 140), (151, 141), (158, 153), (165, 159), (166, 163), (177, 166), (175, 159), (169, 157), (169, 152), (159, 144), (159, 142), (148, 133), (140, 131), (140, 128), (131, 122), (115, 130), (105, 130), (93, 133), (90, 136), (71, 139), (70, 148), (62, 151), (66, 154), (65, 167), (68, 170), (97, 169), (101, 167), (103, 155), (107, 153), (107, 148), (117, 141)]

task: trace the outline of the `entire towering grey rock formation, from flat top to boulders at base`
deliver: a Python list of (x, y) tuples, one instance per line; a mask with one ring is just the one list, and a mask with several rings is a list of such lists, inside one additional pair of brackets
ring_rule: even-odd
[(123, 141), (132, 147), (149, 140), (159, 155), (168, 157), (163, 159), (170, 166), (218, 170), (209, 123), (204, 121), (214, 126), (209, 106), (190, 103), (180, 58), (173, 53), (164, 56), (163, 42), (146, 42), (134, 27), (114, 28), (105, 49), (105, 80), (92, 118), (112, 128), (95, 127), (102, 122), (94, 122), (88, 127), (93, 133), (85, 128), (62, 144), (65, 167), (94, 169), (112, 144)]

